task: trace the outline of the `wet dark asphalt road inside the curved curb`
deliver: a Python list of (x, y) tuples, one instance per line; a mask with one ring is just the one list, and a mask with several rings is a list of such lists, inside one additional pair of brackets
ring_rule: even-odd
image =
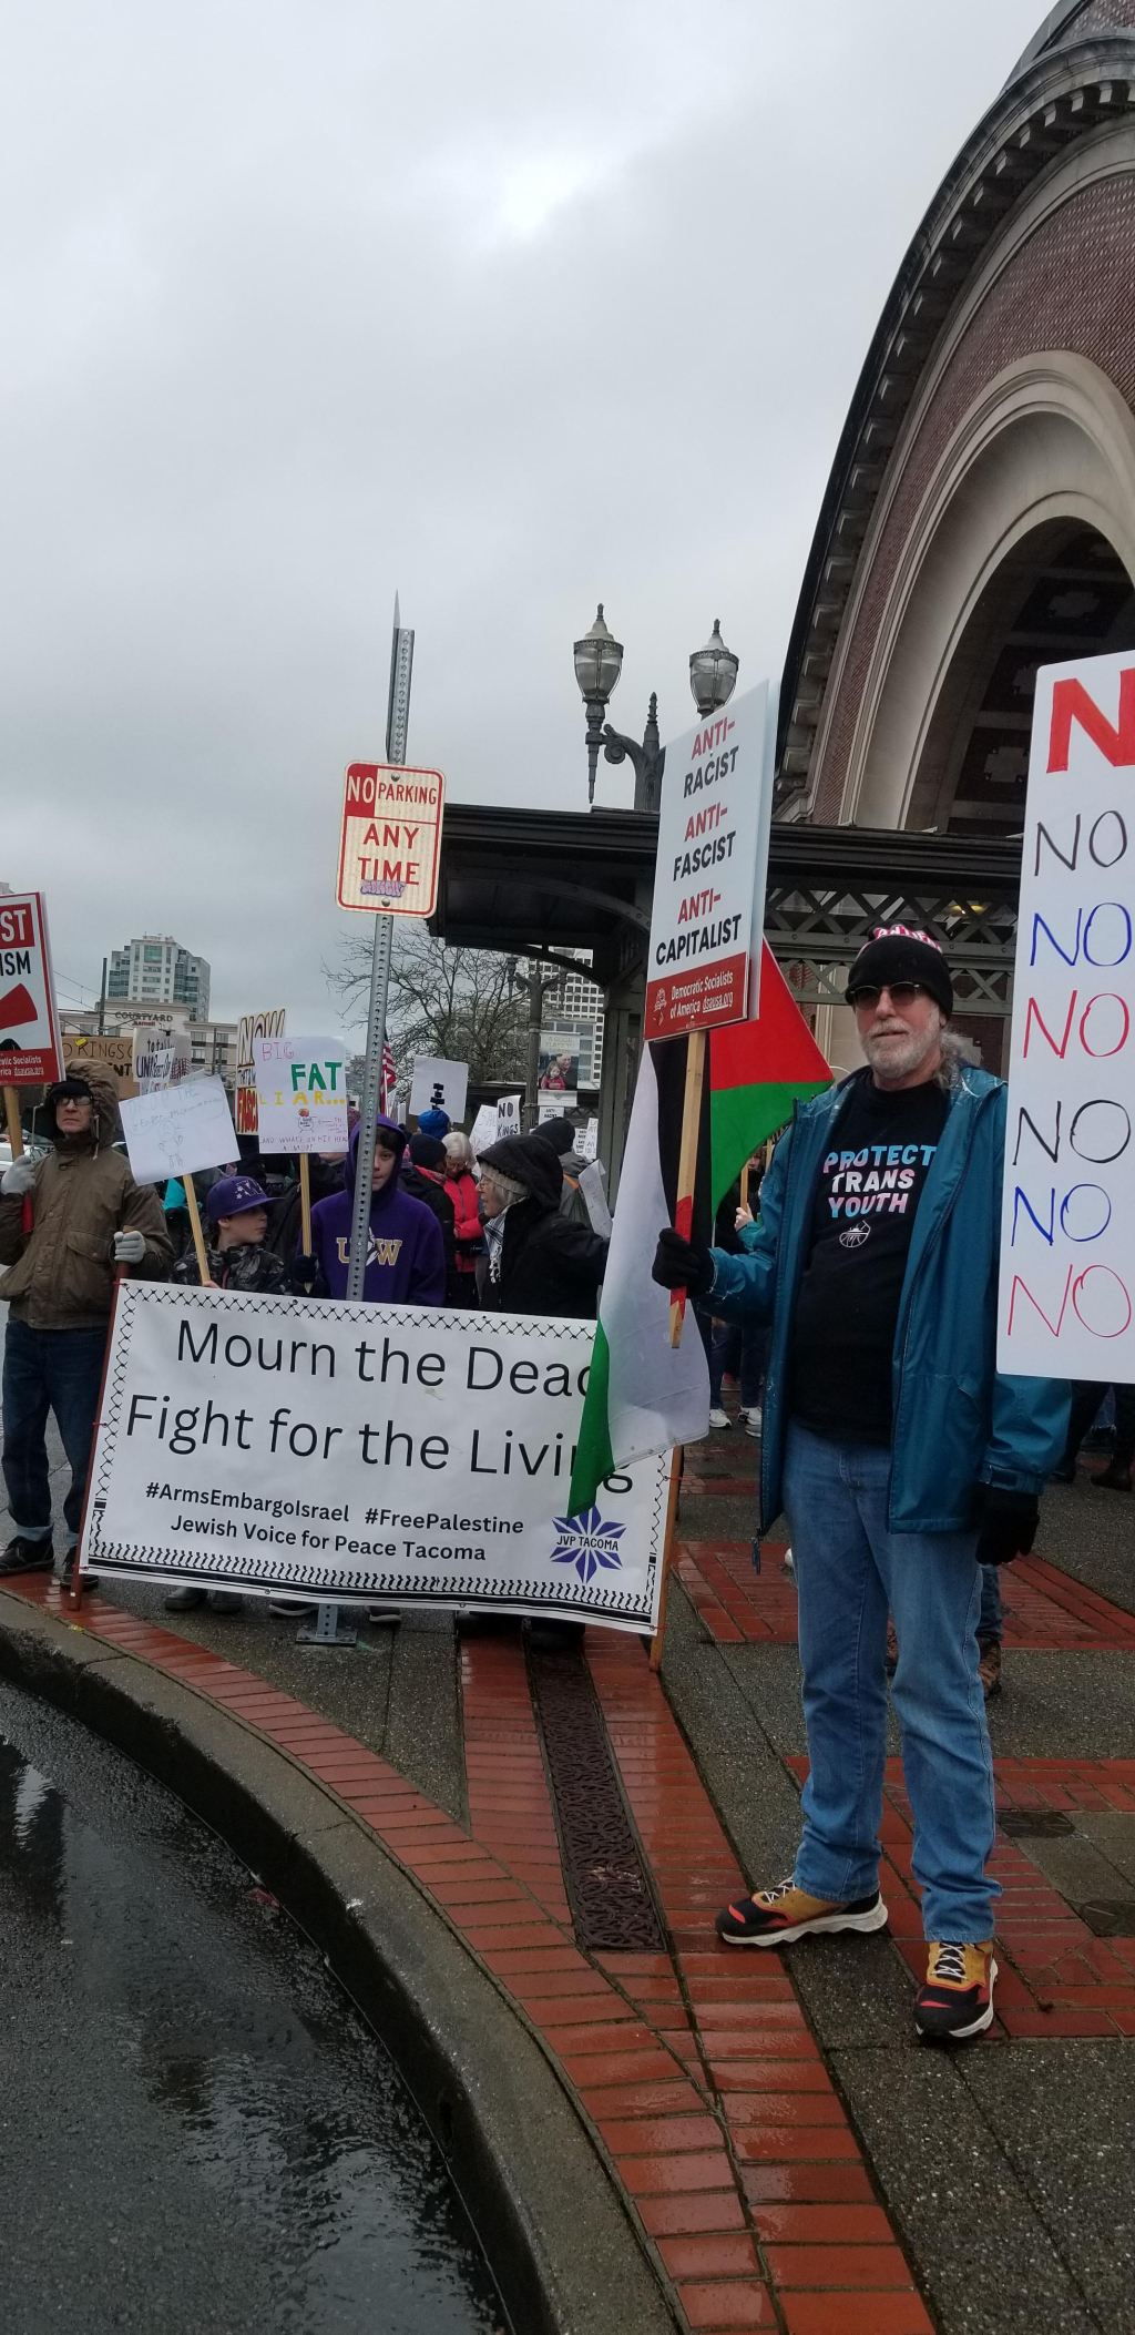
[(173, 1796), (0, 1686), (5, 2335), (481, 2335), (388, 2055)]

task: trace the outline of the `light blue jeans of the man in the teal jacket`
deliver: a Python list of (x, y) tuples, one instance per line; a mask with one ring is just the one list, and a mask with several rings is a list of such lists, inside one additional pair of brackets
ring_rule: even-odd
[(981, 1569), (972, 1532), (890, 1532), (890, 1450), (827, 1443), (796, 1422), (785, 1455), (785, 1515), (799, 1585), (810, 1775), (796, 1882), (845, 1903), (878, 1887), (892, 1681), (913, 1810), (922, 1931), (955, 1945), (993, 1936), (993, 1761), (981, 1693)]

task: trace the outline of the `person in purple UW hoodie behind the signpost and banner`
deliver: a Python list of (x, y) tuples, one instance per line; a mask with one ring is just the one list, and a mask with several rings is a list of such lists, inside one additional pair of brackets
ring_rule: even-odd
[[(369, 1305), (444, 1305), (446, 1245), (441, 1226), (423, 1200), (413, 1200), (399, 1186), (397, 1170), (404, 1149), (402, 1128), (392, 1118), (378, 1118), (362, 1296)], [(315, 1266), (311, 1296), (318, 1298), (346, 1298), (357, 1156), (360, 1130), (353, 1128), (343, 1160), (343, 1191), (334, 1191), (311, 1212)]]

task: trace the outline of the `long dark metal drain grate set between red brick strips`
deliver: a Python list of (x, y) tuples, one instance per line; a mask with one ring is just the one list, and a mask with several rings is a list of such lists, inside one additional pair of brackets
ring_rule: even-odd
[(666, 1952), (584, 1656), (530, 1646), (528, 1681), (579, 1945), (593, 1954)]

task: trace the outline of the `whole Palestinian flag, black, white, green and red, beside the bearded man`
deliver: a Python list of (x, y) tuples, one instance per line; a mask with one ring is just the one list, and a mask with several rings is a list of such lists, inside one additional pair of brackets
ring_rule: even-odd
[[(712, 1240), (712, 1214), (750, 1151), (831, 1083), (831, 1072), (768, 946), (761, 1013), (710, 1034), (698, 1172), (689, 1240)], [(568, 1513), (591, 1508), (600, 1483), (633, 1459), (696, 1443), (708, 1431), (710, 1371), (687, 1315), (670, 1345), (670, 1291), (649, 1277), (659, 1233), (677, 1214), (677, 1151), (687, 1086), (687, 1039), (642, 1048), (619, 1175), (612, 1247), (600, 1291)]]

